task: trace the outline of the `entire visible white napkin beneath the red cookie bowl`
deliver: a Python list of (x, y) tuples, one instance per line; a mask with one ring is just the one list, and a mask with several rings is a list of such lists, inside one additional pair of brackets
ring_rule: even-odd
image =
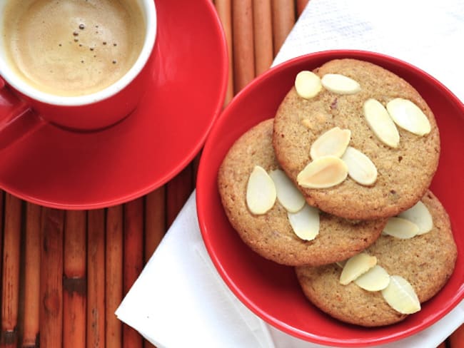
[[(422, 68), (464, 101), (464, 2), (311, 0), (274, 64), (313, 51), (378, 51)], [(158, 347), (323, 347), (256, 317), (219, 277), (203, 245), (195, 194), (116, 311)], [(464, 301), (428, 329), (381, 347), (436, 347), (464, 322)]]

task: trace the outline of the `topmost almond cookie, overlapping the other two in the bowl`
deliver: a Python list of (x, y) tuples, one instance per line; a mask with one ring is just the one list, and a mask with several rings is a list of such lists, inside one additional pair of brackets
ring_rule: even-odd
[[(316, 68), (314, 73), (322, 78), (322, 85), (317, 88), (311, 85), (311, 91), (315, 91), (311, 96), (301, 88), (300, 93), (306, 98), (301, 97), (293, 86), (276, 113), (273, 146), (278, 163), (298, 184), (298, 175), (309, 163), (316, 162), (311, 158), (311, 148), (316, 140), (339, 128), (338, 132), (333, 132), (333, 138), (338, 139), (338, 145), (344, 150), (343, 136), (346, 133), (341, 131), (348, 130), (349, 155), (354, 158), (351, 162), (354, 165), (359, 161), (365, 163), (364, 168), (358, 169), (358, 176), (368, 173), (370, 177), (359, 183), (353, 179), (351, 168), (343, 169), (343, 163), (332, 158), (331, 165), (337, 166), (341, 174), (346, 170), (348, 175), (345, 173), (340, 177), (340, 183), (327, 188), (306, 187), (301, 179), (298, 188), (308, 204), (333, 215), (361, 220), (394, 216), (413, 206), (428, 189), (440, 155), (438, 128), (423, 98), (402, 78), (365, 61), (329, 61)], [(326, 76), (333, 76), (331, 74), (346, 76), (352, 81), (328, 79), (324, 83)], [(341, 91), (333, 86), (341, 86)], [(371, 104), (366, 106), (369, 100)], [(423, 116), (414, 118), (412, 131), (406, 131), (402, 127), (408, 127), (404, 123), (410, 120), (403, 117), (401, 110), (413, 110), (415, 106), (412, 104), (422, 111)], [(372, 117), (366, 118), (365, 108)], [(386, 119), (377, 117), (379, 108)], [(418, 113), (414, 111), (414, 117)], [(399, 118), (395, 121), (398, 123), (393, 122), (392, 115)], [(390, 123), (389, 128), (385, 126), (386, 121)], [(396, 139), (395, 132), (399, 135)], [(422, 133), (425, 134), (420, 135)], [(324, 150), (321, 145), (318, 148), (319, 153), (321, 148)]]

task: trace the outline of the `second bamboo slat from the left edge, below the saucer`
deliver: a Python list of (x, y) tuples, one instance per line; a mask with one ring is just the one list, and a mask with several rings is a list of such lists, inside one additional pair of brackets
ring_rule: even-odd
[(39, 344), (41, 211), (40, 205), (26, 204), (23, 348)]

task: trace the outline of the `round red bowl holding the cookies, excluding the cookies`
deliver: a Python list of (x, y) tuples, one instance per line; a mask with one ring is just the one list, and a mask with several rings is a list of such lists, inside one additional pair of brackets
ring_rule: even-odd
[[(357, 58), (401, 76), (425, 98), (441, 134), (441, 156), (431, 190), (450, 215), (458, 260), (438, 295), (403, 322), (366, 329), (332, 319), (304, 297), (293, 267), (278, 265), (251, 251), (223, 211), (216, 177), (233, 142), (249, 128), (273, 118), (298, 71), (333, 58)], [(432, 76), (396, 58), (366, 51), (323, 51), (282, 63), (253, 80), (231, 101), (208, 136), (198, 168), (196, 203), (201, 234), (224, 282), (243, 304), (269, 324), (319, 344), (360, 347), (393, 342), (430, 326), (464, 298), (464, 106)]]

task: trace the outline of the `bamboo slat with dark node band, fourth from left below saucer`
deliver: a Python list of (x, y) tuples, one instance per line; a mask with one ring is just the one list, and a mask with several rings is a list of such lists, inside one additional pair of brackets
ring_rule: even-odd
[(86, 212), (66, 211), (64, 224), (63, 347), (86, 347)]

